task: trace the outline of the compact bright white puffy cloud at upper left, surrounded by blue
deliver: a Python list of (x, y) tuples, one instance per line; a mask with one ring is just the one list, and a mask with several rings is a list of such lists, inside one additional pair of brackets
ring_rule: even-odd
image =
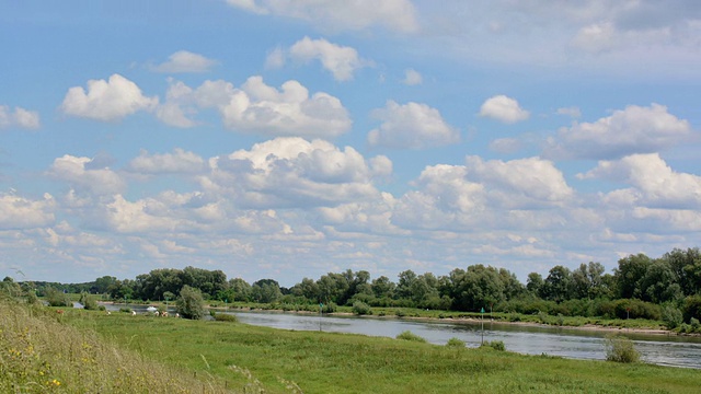
[(145, 96), (136, 83), (115, 73), (108, 81), (88, 81), (88, 93), (80, 86), (70, 88), (60, 108), (67, 115), (113, 121), (157, 105), (158, 97)]

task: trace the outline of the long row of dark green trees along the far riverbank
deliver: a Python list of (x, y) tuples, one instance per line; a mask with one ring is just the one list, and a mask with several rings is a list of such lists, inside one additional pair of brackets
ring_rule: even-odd
[[(612, 274), (605, 271), (604, 265), (595, 262), (575, 269), (558, 265), (544, 277), (529, 274), (524, 285), (505, 268), (481, 264), (456, 268), (444, 276), (407, 269), (399, 274), (397, 281), (386, 276), (371, 279), (366, 270), (347, 269), (315, 280), (303, 278), (291, 288), (284, 288), (274, 279), (248, 283), (241, 278), (228, 280), (221, 270), (186, 267), (154, 269), (135, 279), (105, 276), (94, 282), (61, 286), (73, 292), (104, 293), (117, 300), (175, 300), (181, 289), (188, 286), (198, 289), (205, 299), (225, 302), (327, 305), (363, 302), (370, 306), (452, 311), (484, 308), (497, 312), (654, 320), (674, 311), (686, 321), (701, 318), (698, 247), (675, 248), (658, 258), (630, 255), (618, 260)], [(51, 287), (51, 283), (35, 285)]]

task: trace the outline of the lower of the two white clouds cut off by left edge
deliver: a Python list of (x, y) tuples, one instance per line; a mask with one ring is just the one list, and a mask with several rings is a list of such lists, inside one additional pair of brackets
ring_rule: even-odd
[(0, 230), (23, 230), (50, 225), (56, 201), (49, 194), (32, 200), (13, 194), (0, 195)]

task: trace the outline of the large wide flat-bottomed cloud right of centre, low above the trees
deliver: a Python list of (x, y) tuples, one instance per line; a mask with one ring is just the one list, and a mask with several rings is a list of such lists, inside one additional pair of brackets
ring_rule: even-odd
[(529, 158), (427, 166), (399, 199), (393, 219), (405, 228), (468, 231), (547, 229), (564, 222), (574, 190), (550, 161)]

